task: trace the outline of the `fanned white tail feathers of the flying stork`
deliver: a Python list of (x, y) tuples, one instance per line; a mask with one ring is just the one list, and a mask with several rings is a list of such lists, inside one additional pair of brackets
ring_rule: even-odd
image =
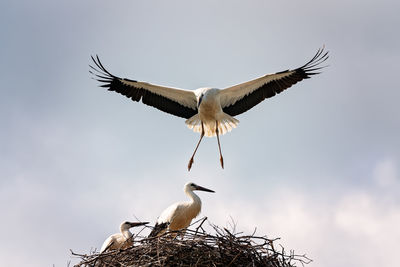
[[(201, 120), (199, 114), (196, 114), (193, 117), (187, 119), (185, 123), (189, 129), (192, 129), (197, 133), (201, 133)], [(224, 135), (227, 132), (232, 131), (232, 129), (236, 128), (238, 124), (239, 120), (226, 113), (223, 113), (218, 119), (219, 135)], [(215, 121), (204, 122), (204, 135), (207, 137), (212, 137), (216, 135)]]

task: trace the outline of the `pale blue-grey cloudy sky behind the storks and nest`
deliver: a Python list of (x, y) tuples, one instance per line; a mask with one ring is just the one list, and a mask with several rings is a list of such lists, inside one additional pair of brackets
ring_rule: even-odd
[[(0, 259), (67, 266), (124, 220), (154, 223), (200, 192), (200, 216), (279, 237), (309, 266), (395, 266), (400, 241), (400, 3), (11, 1), (0, 3)], [(182, 118), (98, 87), (115, 75), (225, 88), (329, 65), (203, 140)], [(396, 78), (396, 79), (395, 79)]]

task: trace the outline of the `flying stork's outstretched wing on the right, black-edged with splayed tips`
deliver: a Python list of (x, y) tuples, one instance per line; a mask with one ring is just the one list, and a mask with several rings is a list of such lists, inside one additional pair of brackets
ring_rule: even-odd
[(325, 52), (324, 47), (322, 47), (318, 49), (318, 52), (309, 62), (300, 68), (267, 74), (226, 88), (220, 92), (221, 107), (225, 113), (231, 116), (239, 115), (265, 98), (273, 97), (297, 82), (319, 74), (318, 70), (324, 68), (320, 64), (328, 57), (328, 52)]

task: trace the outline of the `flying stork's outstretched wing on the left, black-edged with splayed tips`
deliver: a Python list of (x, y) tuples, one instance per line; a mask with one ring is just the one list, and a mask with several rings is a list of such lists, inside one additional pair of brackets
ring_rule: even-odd
[(139, 102), (142, 99), (144, 104), (178, 117), (188, 119), (197, 114), (197, 101), (193, 91), (119, 78), (104, 68), (98, 56), (92, 56), (92, 60), (95, 67), (89, 65), (93, 70), (90, 73), (97, 81), (103, 83), (101, 87), (120, 93), (133, 101)]

